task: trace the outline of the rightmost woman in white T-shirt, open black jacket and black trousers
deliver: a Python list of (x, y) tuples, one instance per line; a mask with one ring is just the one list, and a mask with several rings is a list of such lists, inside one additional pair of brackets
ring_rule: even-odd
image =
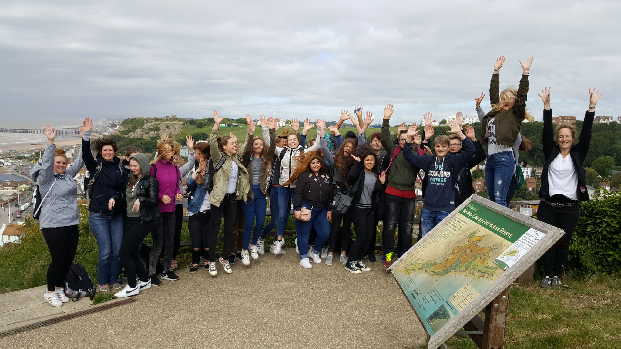
[(586, 171), (582, 168), (589, 152), (591, 128), (595, 117), (595, 106), (599, 100), (599, 90), (589, 89), (589, 109), (584, 114), (584, 122), (578, 143), (576, 126), (558, 125), (556, 130), (552, 123), (550, 109), (550, 88), (542, 90), (539, 96), (543, 100), (543, 154), (545, 165), (542, 171), (542, 186), (539, 191), (541, 202), (537, 210), (537, 219), (554, 225), (565, 231), (563, 237), (543, 254), (545, 278), (541, 288), (561, 286), (561, 275), (569, 256), (569, 241), (573, 235), (580, 215), (578, 204), (588, 201), (586, 190)]

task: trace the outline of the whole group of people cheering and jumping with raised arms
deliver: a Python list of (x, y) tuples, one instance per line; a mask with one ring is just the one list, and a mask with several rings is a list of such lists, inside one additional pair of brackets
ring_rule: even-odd
[[(519, 86), (501, 91), (499, 70), (504, 60), (499, 57), (494, 64), (489, 88), (491, 111), (485, 112), (480, 106), (483, 93), (475, 99), (481, 133), (476, 135), (473, 127), (463, 126), (458, 112), (455, 119), (447, 121), (449, 135), (433, 139), (433, 150), (432, 114), (425, 114), (422, 130), (416, 122), (398, 125), (393, 140), (391, 104), (384, 108), (381, 131), (373, 132), (368, 144), (366, 129), (373, 115), (363, 115), (363, 107), (356, 107), (355, 116), (341, 111), (334, 126), (326, 127), (325, 120), (317, 119), (317, 138), (309, 140), (307, 133), (315, 127), (309, 119), (302, 130), (298, 120), (293, 119), (278, 133), (278, 119), (261, 116), (257, 127), (247, 114), (248, 129), (240, 144), (232, 133), (220, 135), (219, 125), (224, 118), (214, 111), (208, 142), (194, 144), (192, 137), (186, 137), (188, 161), (179, 156), (180, 144), (166, 135), (157, 143), (152, 161), (136, 147), (127, 148), (121, 160), (111, 138), (97, 138), (91, 145), (93, 122), (87, 118), (81, 129), (78, 158), (68, 166), (64, 151), (54, 144), (56, 130), (46, 125), (48, 145), (42, 162), (31, 173), (43, 196), (40, 228), (52, 255), (45, 298), (52, 306), (69, 300), (63, 282), (78, 245), (78, 188), (74, 177), (83, 165), (90, 174), (86, 188), (89, 224), (99, 248), (99, 290), (120, 289), (117, 297), (134, 296), (160, 285), (158, 275), (169, 281), (179, 279), (175, 269), (184, 194), (189, 198), (192, 244), (189, 273), (196, 273), (204, 265), (212, 276), (218, 273), (217, 264), (230, 274), (236, 260), (250, 265), (251, 260), (264, 255), (265, 239), (274, 227), (277, 229), (269, 242), (270, 252), (284, 254), (283, 235), (291, 211), (296, 252), (303, 268), (322, 261), (332, 265), (333, 255), (338, 252), (345, 270), (354, 274), (371, 270), (363, 260), (376, 261), (379, 220), (383, 221), (382, 261), (388, 267), (412, 247), (417, 178), (424, 196), (421, 237), (475, 193), (470, 170), (483, 160), (488, 198), (507, 206), (517, 189), (517, 176), (521, 175), (519, 151), (530, 149), (530, 142), (520, 135), (520, 125), (525, 119), (533, 121), (525, 104), (533, 58), (520, 61), (523, 73)], [(589, 89), (589, 95), (589, 109), (576, 142), (574, 125), (553, 127), (550, 88), (539, 94), (544, 104), (545, 166), (538, 219), (566, 232), (543, 255), (546, 276), (540, 286), (544, 288), (561, 286), (569, 240), (578, 224), (578, 203), (589, 199), (582, 163), (601, 94)], [(355, 126), (357, 134), (340, 134), (346, 120)], [(182, 186), (183, 178), (186, 188)], [(344, 197), (349, 197), (350, 202)], [(271, 219), (265, 224), (268, 199)], [(224, 243), (217, 257), (222, 222)], [(352, 223), (355, 240), (351, 238)], [(150, 248), (143, 243), (148, 233), (153, 238)], [(127, 284), (120, 277), (122, 273)]]

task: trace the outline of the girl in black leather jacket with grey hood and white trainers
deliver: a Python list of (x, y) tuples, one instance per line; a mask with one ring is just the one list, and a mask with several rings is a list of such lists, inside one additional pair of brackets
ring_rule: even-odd
[[(149, 175), (149, 158), (136, 154), (129, 159), (132, 177), (125, 190), (127, 199), (127, 230), (120, 245), (120, 261), (127, 275), (127, 286), (117, 292), (117, 297), (135, 296), (142, 289), (152, 286), (142, 262), (138, 259), (138, 247), (153, 228), (153, 219), (160, 215), (158, 193), (160, 184)], [(136, 283), (136, 274), (140, 283)]]

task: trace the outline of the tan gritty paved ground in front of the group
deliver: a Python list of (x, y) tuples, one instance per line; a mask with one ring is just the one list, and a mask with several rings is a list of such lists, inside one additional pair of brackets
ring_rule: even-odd
[[(2, 348), (419, 348), (425, 330), (381, 262), (306, 270), (293, 249), (233, 274), (218, 264), (143, 291), (138, 302), (0, 339)], [(51, 308), (51, 307), (50, 307)]]

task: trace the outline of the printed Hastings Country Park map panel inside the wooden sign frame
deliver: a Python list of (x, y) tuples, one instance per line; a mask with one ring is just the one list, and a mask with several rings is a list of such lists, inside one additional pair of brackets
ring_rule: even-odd
[[(522, 238), (524, 235), (528, 238)], [(472, 201), (399, 261), (392, 273), (425, 329), (433, 335), (541, 235)]]

